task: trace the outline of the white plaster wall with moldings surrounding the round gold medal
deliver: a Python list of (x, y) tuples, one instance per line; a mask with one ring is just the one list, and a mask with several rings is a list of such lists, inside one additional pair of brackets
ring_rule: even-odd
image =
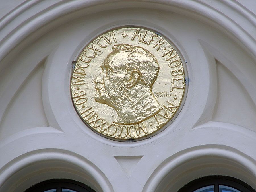
[[(255, 1), (19, 3), (0, 2), (7, 14), (0, 20), (1, 192), (53, 178), (96, 191), (174, 192), (218, 174), (256, 189)], [(188, 73), (187, 97), (175, 121), (133, 143), (86, 127), (69, 90), (80, 50), (124, 25), (169, 38)]]

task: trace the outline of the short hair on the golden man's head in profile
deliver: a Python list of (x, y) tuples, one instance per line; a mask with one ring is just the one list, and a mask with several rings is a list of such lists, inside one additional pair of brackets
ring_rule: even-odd
[[(120, 69), (127, 71), (137, 70), (140, 73), (139, 83), (152, 87), (159, 72), (159, 65), (148, 50), (128, 44), (119, 44), (112, 47), (113, 52), (106, 58), (112, 63), (118, 62)], [(121, 53), (122, 58), (115, 58), (115, 53)]]

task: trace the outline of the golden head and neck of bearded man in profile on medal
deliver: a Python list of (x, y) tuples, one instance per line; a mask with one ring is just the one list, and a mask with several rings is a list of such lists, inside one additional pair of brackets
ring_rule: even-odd
[(95, 101), (114, 108), (118, 124), (139, 123), (161, 110), (152, 93), (159, 65), (149, 51), (128, 44), (112, 47), (95, 79)]

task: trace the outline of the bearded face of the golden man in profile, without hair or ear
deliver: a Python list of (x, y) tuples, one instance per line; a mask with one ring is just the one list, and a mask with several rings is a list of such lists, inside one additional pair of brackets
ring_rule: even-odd
[(125, 82), (129, 80), (126, 71), (120, 69), (121, 64), (114, 62), (120, 57), (120, 53), (110, 54), (101, 65), (102, 73), (94, 79), (95, 100), (112, 107), (118, 103), (116, 100), (121, 99)]

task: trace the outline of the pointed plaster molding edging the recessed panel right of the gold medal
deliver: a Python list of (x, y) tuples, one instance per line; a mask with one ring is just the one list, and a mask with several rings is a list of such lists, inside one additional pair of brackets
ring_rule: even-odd
[(218, 92), (217, 88), (218, 77), (216, 71), (216, 60), (222, 63), (222, 65), (224, 65), (228, 70), (230, 70), (230, 72), (241, 82), (243, 88), (251, 98), (252, 103), (254, 104), (254, 106), (256, 106), (256, 87), (254, 85), (254, 81), (252, 79), (249, 79), (249, 77), (247, 76), (246, 72), (248, 71), (244, 70), (243, 68), (241, 69), (241, 66), (239, 66), (240, 61), (236, 61), (236, 59), (233, 58), (231, 55), (224, 55), (222, 53), (224, 49), (221, 49), (220, 47), (216, 48), (214, 47), (214, 45), (210, 45), (209, 43), (201, 39), (199, 39), (198, 41), (202, 47), (209, 66), (209, 71), (207, 72), (209, 73), (208, 76), (210, 90), (207, 96), (204, 110), (202, 111), (201, 117), (198, 119), (195, 125), (197, 126), (202, 123), (211, 121), (213, 112), (216, 110), (214, 108), (216, 107), (217, 98), (220, 96), (220, 92)]

